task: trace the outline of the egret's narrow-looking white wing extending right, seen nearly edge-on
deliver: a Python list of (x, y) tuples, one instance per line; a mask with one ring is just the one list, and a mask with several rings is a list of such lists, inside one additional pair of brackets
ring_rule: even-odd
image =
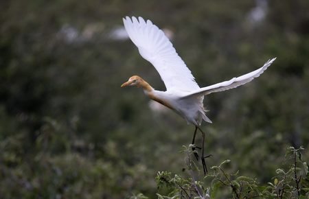
[(269, 67), (273, 61), (275, 61), (276, 58), (273, 58), (271, 60), (268, 60), (263, 67), (260, 67), (260, 69), (257, 69), (255, 71), (252, 71), (251, 73), (247, 73), (245, 75), (241, 75), (238, 78), (232, 78), (229, 81), (220, 82), (218, 84), (214, 84), (211, 86), (207, 86), (201, 89), (198, 89), (196, 91), (190, 92), (187, 95), (183, 96), (182, 98), (192, 97), (192, 96), (203, 96), (208, 95), (209, 93), (215, 93), (220, 91), (225, 91), (228, 89), (236, 88), (237, 86), (240, 86), (242, 84), (246, 84), (248, 82), (251, 82), (254, 78), (258, 78), (260, 74), (262, 74), (267, 67)]

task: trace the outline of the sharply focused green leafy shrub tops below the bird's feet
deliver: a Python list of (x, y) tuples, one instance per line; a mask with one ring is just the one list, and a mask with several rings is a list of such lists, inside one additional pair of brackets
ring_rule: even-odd
[[(240, 176), (239, 172), (229, 173), (225, 170), (231, 161), (226, 160), (218, 166), (211, 167), (211, 174), (196, 181), (196, 174), (186, 151), (186, 177), (171, 172), (158, 172), (156, 180), (160, 191), (158, 198), (308, 198), (309, 172), (308, 164), (301, 158), (301, 150), (289, 147), (286, 150), (284, 169), (277, 169), (277, 176), (271, 178), (273, 183), (262, 185), (256, 178)], [(186, 155), (187, 155), (186, 154)], [(161, 193), (165, 193), (162, 196)]]

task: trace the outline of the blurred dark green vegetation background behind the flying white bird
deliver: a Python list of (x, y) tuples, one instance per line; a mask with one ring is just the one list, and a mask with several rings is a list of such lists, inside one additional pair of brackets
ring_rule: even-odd
[(265, 183), (287, 146), (309, 159), (308, 0), (2, 0), (0, 198), (155, 198), (158, 171), (182, 173), (194, 126), (120, 89), (131, 75), (165, 89), (124, 34), (127, 15), (163, 28), (200, 86), (277, 57), (205, 98), (209, 166), (231, 159)]

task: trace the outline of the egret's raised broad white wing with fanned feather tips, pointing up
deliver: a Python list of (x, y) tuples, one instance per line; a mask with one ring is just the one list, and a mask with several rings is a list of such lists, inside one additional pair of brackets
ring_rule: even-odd
[(133, 16), (131, 21), (126, 16), (123, 20), (126, 32), (139, 49), (139, 54), (157, 69), (167, 90), (194, 91), (200, 88), (162, 30), (141, 17), (137, 20)]

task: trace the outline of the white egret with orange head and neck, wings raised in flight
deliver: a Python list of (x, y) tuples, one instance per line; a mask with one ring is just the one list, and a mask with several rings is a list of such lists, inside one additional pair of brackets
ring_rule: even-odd
[(212, 123), (212, 121), (206, 115), (203, 104), (204, 96), (210, 93), (233, 89), (251, 82), (254, 78), (258, 78), (276, 58), (268, 60), (259, 69), (237, 78), (231, 78), (231, 80), (211, 86), (200, 87), (196, 83), (190, 69), (187, 68), (185, 62), (176, 53), (168, 37), (165, 36), (164, 32), (157, 25), (153, 24), (150, 20), (144, 20), (141, 16), (138, 18), (135, 16), (132, 16), (132, 18), (126, 16), (123, 18), (123, 22), (130, 40), (136, 45), (141, 57), (148, 60), (158, 71), (161, 80), (165, 84), (166, 91), (157, 91), (138, 75), (130, 77), (121, 87), (137, 86), (143, 89), (144, 94), (151, 100), (155, 100), (174, 110), (174, 112), (187, 121), (187, 124), (193, 124), (195, 129), (192, 139), (192, 151), (197, 160), (199, 160), (199, 156), (195, 148), (198, 147), (195, 147), (194, 141), (197, 130), (201, 132), (201, 162), (203, 172), (206, 175), (207, 166), (205, 159), (211, 155), (204, 155), (205, 132), (201, 129), (201, 124), (202, 121), (208, 123)]

